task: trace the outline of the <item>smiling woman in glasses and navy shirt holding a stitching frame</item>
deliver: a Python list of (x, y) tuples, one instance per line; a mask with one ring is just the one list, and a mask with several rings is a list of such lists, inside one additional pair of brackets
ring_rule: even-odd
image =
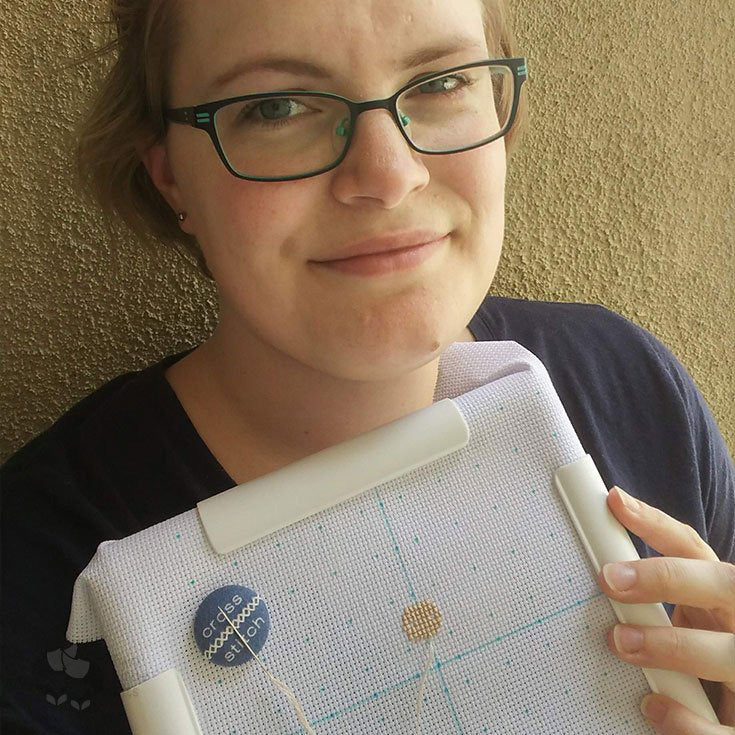
[[(731, 732), (735, 469), (705, 401), (660, 342), (604, 308), (486, 295), (522, 66), (498, 71), (487, 115), (452, 101), (482, 94), (469, 69), (405, 92), (395, 113), (276, 94), (384, 100), (419, 77), (517, 58), (503, 2), (116, 0), (113, 17), (120, 56), (82, 129), (82, 169), (103, 206), (194, 254), (219, 320), (202, 345), (119, 376), (4, 466), (4, 724), (127, 731), (104, 643), (63, 637), (74, 579), (102, 540), (429, 405), (452, 342), (513, 339), (547, 366), (608, 487), (644, 501), (631, 510), (615, 491), (609, 505), (642, 557), (663, 558), (632, 564), (628, 591), (601, 576), (602, 589), (678, 604), (676, 627), (638, 630), (631, 654), (611, 633), (611, 651), (717, 682), (722, 726), (653, 696), (659, 732)], [(266, 93), (222, 107), (216, 136), (189, 110)], [(438, 96), (448, 101), (424, 99)]]

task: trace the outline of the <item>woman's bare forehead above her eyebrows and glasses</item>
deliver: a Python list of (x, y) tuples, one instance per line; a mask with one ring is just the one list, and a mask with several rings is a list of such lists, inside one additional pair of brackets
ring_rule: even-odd
[(184, 0), (177, 12), (173, 82), (189, 93), (213, 93), (223, 72), (264, 57), (312, 62), (354, 89), (429, 46), (468, 39), (477, 58), (486, 51), (481, 0)]

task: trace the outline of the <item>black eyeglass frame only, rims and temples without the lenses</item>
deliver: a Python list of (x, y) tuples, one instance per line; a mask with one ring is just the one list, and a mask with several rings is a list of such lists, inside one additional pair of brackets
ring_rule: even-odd
[[(431, 81), (433, 79), (439, 79), (441, 77), (446, 76), (447, 74), (451, 74), (452, 72), (461, 71), (463, 69), (472, 69), (478, 66), (491, 66), (491, 65), (508, 67), (513, 73), (513, 105), (510, 111), (510, 117), (508, 118), (508, 122), (505, 124), (504, 128), (499, 133), (497, 133), (497, 135), (494, 135), (491, 138), (488, 138), (487, 140), (480, 141), (479, 143), (473, 143), (472, 145), (465, 146), (463, 148), (454, 148), (448, 151), (425, 151), (419, 148), (408, 137), (408, 134), (406, 133), (406, 131), (403, 128), (403, 125), (401, 124), (401, 120), (399, 118), (399, 113), (398, 113), (398, 108), (396, 106), (396, 102), (398, 98), (406, 90), (410, 89), (411, 87), (415, 87), (420, 84), (425, 84), (426, 82)], [(474, 148), (479, 148), (480, 146), (487, 145), (488, 143), (492, 143), (494, 140), (497, 140), (498, 138), (502, 138), (513, 126), (513, 122), (516, 116), (516, 111), (518, 109), (518, 102), (520, 99), (521, 86), (523, 85), (523, 83), (526, 81), (527, 78), (528, 78), (528, 67), (527, 67), (527, 61), (525, 57), (516, 57), (516, 58), (508, 58), (508, 59), (485, 59), (483, 61), (472, 62), (471, 64), (461, 64), (460, 66), (453, 66), (450, 69), (444, 69), (443, 71), (440, 71), (440, 72), (432, 72), (430, 74), (426, 74), (422, 77), (414, 79), (408, 84), (404, 84), (395, 94), (392, 94), (390, 97), (386, 97), (385, 99), (382, 99), (382, 100), (366, 100), (365, 102), (355, 102), (354, 100), (351, 100), (347, 97), (341, 97), (338, 94), (331, 94), (330, 92), (305, 92), (302, 90), (283, 90), (281, 92), (266, 92), (263, 94), (247, 94), (241, 97), (229, 97), (224, 100), (215, 100), (214, 102), (205, 102), (204, 104), (196, 105), (195, 107), (177, 107), (173, 109), (167, 108), (163, 111), (163, 113), (164, 113), (165, 120), (169, 120), (174, 123), (179, 123), (181, 125), (190, 125), (191, 127), (198, 128), (199, 130), (204, 130), (207, 133), (209, 133), (209, 137), (211, 138), (212, 143), (214, 144), (214, 147), (217, 150), (217, 153), (219, 154), (219, 157), (222, 159), (222, 163), (224, 163), (227, 170), (233, 176), (236, 176), (238, 179), (245, 179), (247, 181), (263, 181), (263, 182), (294, 181), (297, 179), (308, 179), (308, 178), (311, 178), (312, 176), (319, 176), (320, 174), (326, 173), (327, 171), (331, 171), (333, 168), (336, 168), (337, 166), (339, 166), (339, 164), (342, 163), (345, 156), (347, 155), (347, 152), (350, 149), (350, 143), (352, 142), (352, 137), (355, 131), (358, 115), (361, 115), (363, 112), (367, 112), (368, 110), (388, 110), (388, 112), (391, 113), (393, 120), (395, 121), (398, 129), (401, 131), (401, 134), (405, 138), (408, 145), (413, 150), (415, 150), (417, 153), (421, 153), (424, 155), (445, 156), (450, 153), (461, 153), (462, 151), (469, 151)], [(261, 177), (261, 176), (245, 176), (244, 174), (238, 173), (232, 168), (232, 166), (230, 166), (229, 162), (227, 161), (227, 157), (225, 156), (225, 153), (222, 149), (222, 146), (220, 145), (219, 137), (217, 136), (217, 128), (214, 124), (215, 113), (221, 107), (224, 107), (225, 105), (229, 105), (233, 102), (244, 102), (246, 100), (254, 100), (254, 99), (282, 98), (288, 94), (298, 95), (299, 97), (326, 97), (332, 100), (339, 100), (340, 102), (343, 102), (344, 104), (347, 105), (347, 107), (350, 110), (350, 124), (349, 124), (348, 132), (347, 132), (347, 140), (345, 141), (345, 145), (344, 145), (344, 149), (342, 150), (342, 153), (339, 155), (337, 160), (333, 161), (328, 166), (325, 166), (317, 171), (312, 171), (307, 174), (298, 174), (295, 176)]]

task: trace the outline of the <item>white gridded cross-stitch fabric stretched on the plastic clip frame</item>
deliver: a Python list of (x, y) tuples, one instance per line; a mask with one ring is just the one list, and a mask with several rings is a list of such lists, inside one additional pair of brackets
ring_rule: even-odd
[(428, 644), (401, 615), (431, 600), (443, 623), (422, 733), (650, 733), (646, 680), (607, 649), (616, 617), (552, 485), (585, 450), (544, 366), (515, 342), (468, 342), (439, 370), (464, 449), (229, 554), (196, 509), (105, 541), (67, 638), (103, 637), (124, 689), (178, 669), (206, 735), (296, 735), (257, 662), (216, 666), (194, 641), (204, 597), (244, 585), (270, 614), (260, 659), (319, 735), (406, 735)]

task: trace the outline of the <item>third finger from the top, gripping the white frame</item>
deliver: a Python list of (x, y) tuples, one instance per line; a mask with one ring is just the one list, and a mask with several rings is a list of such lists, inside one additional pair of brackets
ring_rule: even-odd
[[(632, 633), (629, 638), (626, 633)], [(616, 625), (608, 631), (610, 650), (645, 669), (681, 671), (735, 685), (735, 634), (670, 626)]]

